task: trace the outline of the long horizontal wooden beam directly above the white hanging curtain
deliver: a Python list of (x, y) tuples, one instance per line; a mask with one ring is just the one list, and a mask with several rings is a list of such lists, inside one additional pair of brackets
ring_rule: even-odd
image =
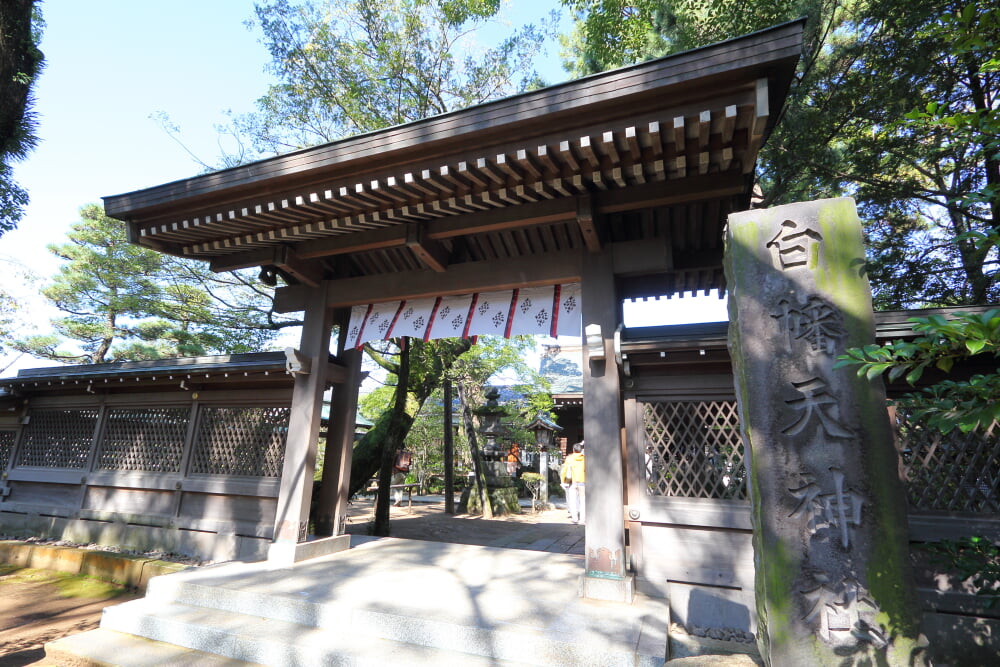
[[(453, 264), (447, 271), (407, 271), (329, 281), (332, 308), (395, 299), (469, 294), (515, 287), (538, 287), (580, 281), (583, 255), (578, 251), (533, 255), (491, 262)], [(276, 312), (302, 310), (308, 288), (303, 285), (275, 290)]]

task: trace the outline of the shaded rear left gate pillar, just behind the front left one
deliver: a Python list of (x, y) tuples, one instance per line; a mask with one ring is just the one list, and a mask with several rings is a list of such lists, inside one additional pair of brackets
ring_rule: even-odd
[(347, 498), (351, 485), (351, 460), (354, 454), (354, 429), (357, 422), (358, 390), (361, 388), (361, 350), (345, 350), (349, 308), (338, 311), (340, 337), (337, 358), (347, 377), (333, 388), (330, 403), (330, 428), (323, 459), (323, 488), (315, 517), (317, 535), (342, 535), (347, 526)]

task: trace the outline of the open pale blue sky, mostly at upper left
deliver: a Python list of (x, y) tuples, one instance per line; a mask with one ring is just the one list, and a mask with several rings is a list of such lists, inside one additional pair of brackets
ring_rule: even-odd
[[(513, 0), (496, 35), (559, 6)], [(168, 114), (184, 144), (215, 163), (215, 127), (227, 110), (251, 111), (270, 79), (259, 33), (244, 25), (252, 0), (46, 0), (42, 12), (46, 67), (35, 89), (41, 143), (15, 167), (31, 204), (18, 230), (0, 237), (0, 269), (11, 276), (20, 265), (44, 279), (59, 266), (45, 246), (65, 240), (81, 206), (201, 171), (151, 115)], [(563, 16), (560, 29), (568, 27)], [(565, 78), (557, 44), (537, 65), (551, 83)], [(31, 321), (54, 314), (37, 283), (8, 279), (4, 286), (27, 302)]]

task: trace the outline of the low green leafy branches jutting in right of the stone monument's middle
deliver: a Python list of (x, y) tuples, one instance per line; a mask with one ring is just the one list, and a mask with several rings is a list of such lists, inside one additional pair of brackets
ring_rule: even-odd
[[(857, 366), (858, 375), (873, 379), (888, 374), (913, 385), (928, 368), (945, 373), (955, 362), (973, 356), (1000, 357), (1000, 309), (910, 318), (920, 335), (886, 345), (851, 348), (838, 357), (835, 368)], [(943, 433), (964, 433), (1000, 423), (1000, 373), (974, 375), (968, 380), (944, 380), (899, 401), (912, 416)]]

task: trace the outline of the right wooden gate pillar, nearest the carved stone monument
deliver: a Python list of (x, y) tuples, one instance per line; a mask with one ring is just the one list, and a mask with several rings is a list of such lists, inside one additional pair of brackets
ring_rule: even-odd
[[(583, 262), (583, 433), (586, 443), (586, 566), (584, 597), (631, 602), (625, 572), (625, 507), (622, 476), (622, 402), (614, 333), (620, 321), (610, 251), (588, 253)], [(596, 327), (600, 333), (596, 333)], [(591, 331), (588, 339), (587, 330)], [(599, 337), (598, 337), (599, 336)]]

